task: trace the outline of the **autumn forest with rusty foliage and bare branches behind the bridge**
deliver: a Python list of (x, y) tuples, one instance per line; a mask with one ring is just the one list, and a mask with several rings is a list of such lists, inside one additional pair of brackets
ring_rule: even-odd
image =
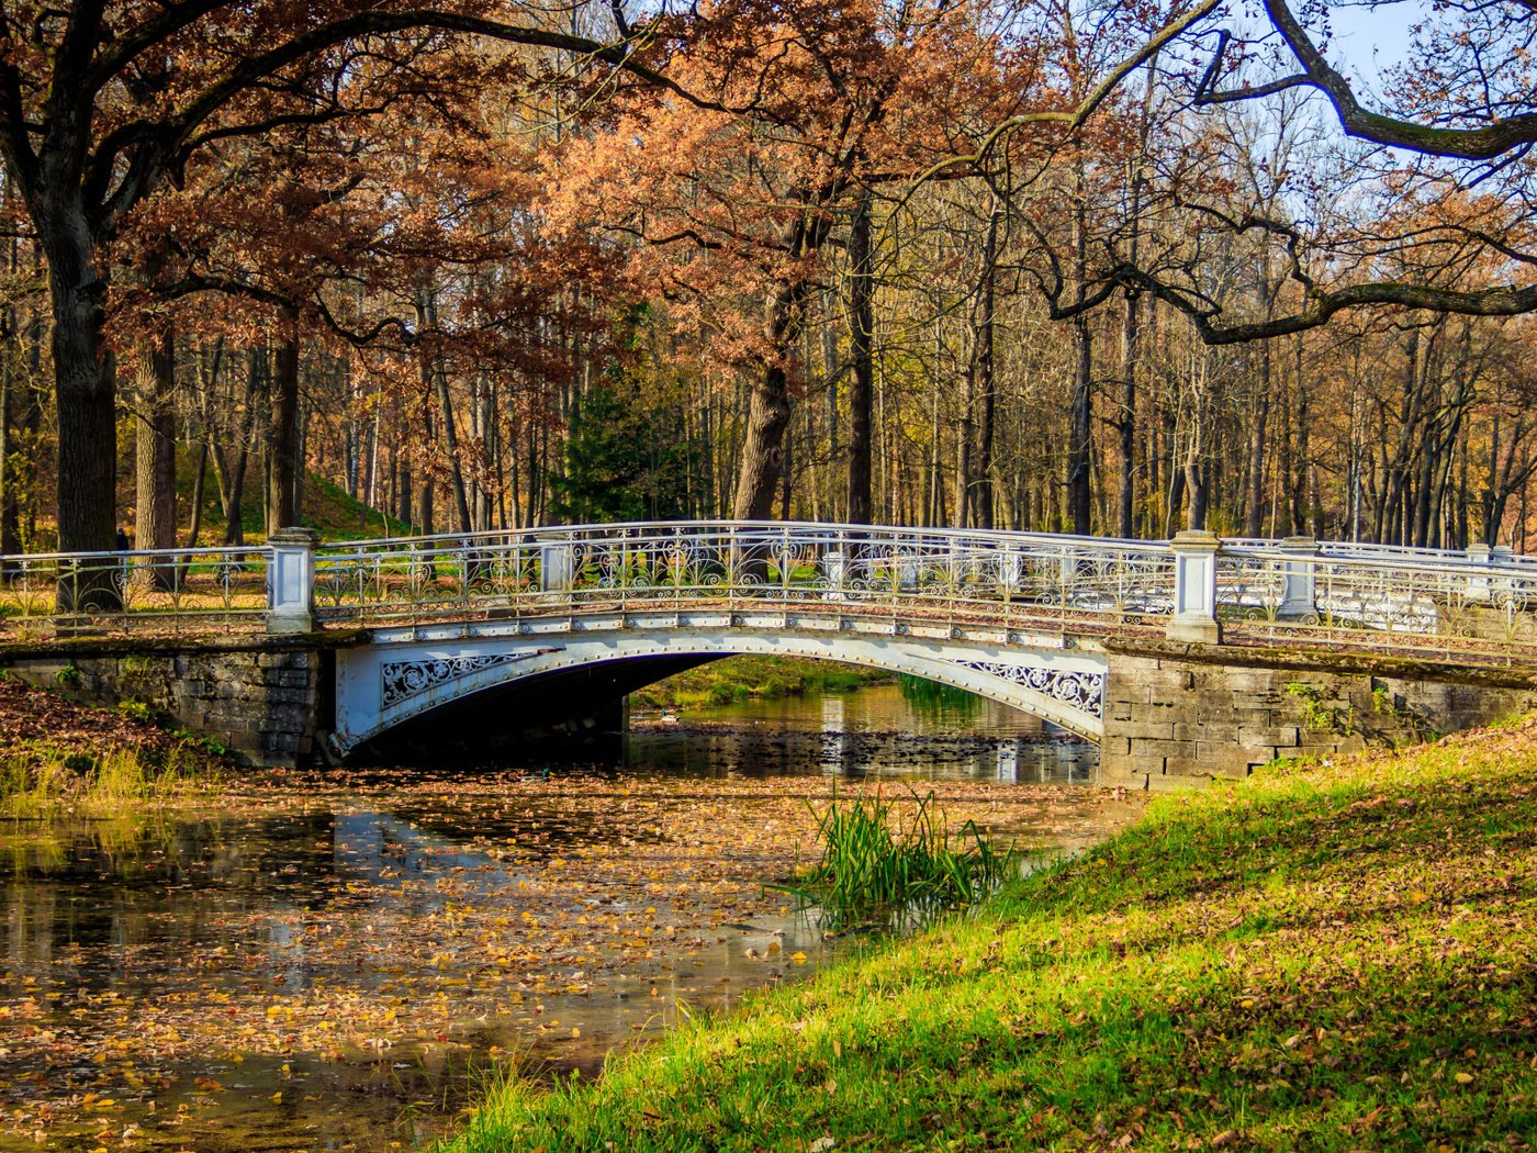
[(1525, 550), (1537, 14), (1359, 8), (1366, 71), (1280, 0), (6, 0), (0, 553)]

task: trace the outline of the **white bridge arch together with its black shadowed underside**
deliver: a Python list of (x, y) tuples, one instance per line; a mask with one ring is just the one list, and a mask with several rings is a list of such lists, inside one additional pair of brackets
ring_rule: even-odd
[[(1090, 739), (1104, 735), (1107, 661), (1019, 638), (913, 635), (785, 621), (559, 621), (526, 627), (381, 630), (337, 655), (334, 750), (395, 759), (450, 755), (455, 735), (513, 741), (619, 727), (622, 698), (722, 656), (810, 656), (908, 673), (988, 696)], [(938, 630), (936, 630), (938, 632)], [(426, 743), (426, 747), (423, 747)]]

